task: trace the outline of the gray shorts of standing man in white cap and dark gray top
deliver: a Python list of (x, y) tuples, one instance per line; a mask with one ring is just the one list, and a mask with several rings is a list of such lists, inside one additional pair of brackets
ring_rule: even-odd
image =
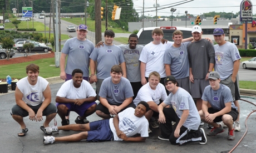
[(204, 88), (210, 85), (208, 80), (194, 79), (194, 83), (191, 83), (191, 96), (193, 98), (201, 98), (204, 93)]

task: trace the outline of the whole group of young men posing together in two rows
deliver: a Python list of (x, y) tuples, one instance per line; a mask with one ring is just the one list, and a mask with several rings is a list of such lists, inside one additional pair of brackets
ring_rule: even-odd
[[(62, 49), (60, 77), (66, 82), (56, 95), (56, 106), (51, 103), (48, 82), (38, 77), (37, 65), (29, 64), (28, 77), (17, 83), (17, 105), (11, 115), (21, 125), (18, 136), (25, 136), (28, 131), (23, 117), (41, 121), (45, 115), (41, 130), (46, 135), (59, 130), (83, 132), (65, 137), (44, 136), (44, 144), (82, 139), (145, 141), (149, 136), (148, 121), (158, 113), (159, 139), (171, 144), (206, 144), (204, 129), (199, 128), (201, 121), (213, 126), (208, 136), (223, 132), (223, 126), (217, 123), (223, 121), (229, 129), (228, 139), (234, 140), (233, 122), (238, 120), (235, 127), (239, 126), (239, 104), (234, 101), (239, 98), (235, 95), (239, 95), (236, 78), (240, 55), (235, 45), (224, 40), (222, 29), (214, 30), (218, 43), (214, 47), (201, 38), (202, 33), (196, 25), (193, 37), (183, 39), (183, 33), (176, 30), (174, 42), (166, 42), (162, 40), (163, 30), (156, 28), (152, 30), (153, 41), (143, 47), (137, 45), (134, 34), (130, 35), (129, 44), (116, 46), (112, 43), (115, 33), (106, 30), (105, 42), (94, 48), (86, 39), (87, 26), (78, 25), (77, 37), (68, 39)], [(96, 93), (90, 85), (94, 82)], [(70, 125), (70, 111), (78, 114), (76, 124)], [(94, 112), (103, 120), (90, 123), (86, 117)], [(62, 126), (49, 126), (57, 113)], [(140, 136), (132, 137), (135, 134)]]

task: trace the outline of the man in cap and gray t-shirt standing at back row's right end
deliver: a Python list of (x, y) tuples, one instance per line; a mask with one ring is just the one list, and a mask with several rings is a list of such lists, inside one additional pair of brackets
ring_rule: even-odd
[[(238, 107), (240, 113), (240, 106), (238, 100), (240, 99), (239, 84), (238, 84), (238, 70), (240, 65), (240, 55), (235, 44), (225, 41), (225, 33), (223, 29), (216, 28), (213, 31), (215, 50), (215, 70), (220, 74), (220, 83), (227, 85), (232, 93), (235, 106)], [(224, 125), (225, 126), (225, 125)], [(235, 131), (240, 131), (239, 115), (234, 123)]]

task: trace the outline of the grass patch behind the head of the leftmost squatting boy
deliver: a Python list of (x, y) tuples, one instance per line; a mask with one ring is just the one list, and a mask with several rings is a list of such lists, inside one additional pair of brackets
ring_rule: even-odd
[(24, 78), (27, 76), (26, 67), (30, 63), (37, 64), (40, 67), (40, 76), (43, 78), (60, 76), (60, 68), (50, 66), (55, 65), (55, 58), (45, 58), (19, 64), (1, 65), (0, 78), (4, 79), (7, 75), (17, 79)]

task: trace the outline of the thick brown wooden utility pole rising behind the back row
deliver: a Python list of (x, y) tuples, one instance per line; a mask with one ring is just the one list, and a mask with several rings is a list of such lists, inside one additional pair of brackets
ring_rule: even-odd
[(101, 40), (101, 1), (95, 0), (95, 44)]

